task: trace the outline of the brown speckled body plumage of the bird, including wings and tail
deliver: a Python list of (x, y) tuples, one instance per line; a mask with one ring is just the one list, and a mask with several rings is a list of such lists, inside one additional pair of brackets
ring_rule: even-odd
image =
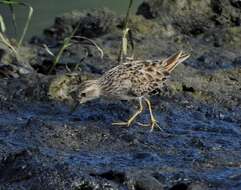
[(107, 71), (99, 80), (101, 94), (132, 99), (161, 89), (171, 71), (189, 55), (177, 53), (164, 60), (133, 60)]

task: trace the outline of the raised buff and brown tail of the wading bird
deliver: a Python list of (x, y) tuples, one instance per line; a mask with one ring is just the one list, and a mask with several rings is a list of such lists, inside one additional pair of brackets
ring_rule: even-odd
[(164, 70), (168, 73), (172, 72), (179, 63), (185, 61), (188, 57), (190, 57), (190, 55), (183, 53), (182, 51), (168, 57), (167, 59), (163, 60), (162, 63)]

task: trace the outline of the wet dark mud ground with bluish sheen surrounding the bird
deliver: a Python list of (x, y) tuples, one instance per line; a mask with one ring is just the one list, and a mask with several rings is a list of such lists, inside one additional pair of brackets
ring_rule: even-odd
[[(131, 17), (135, 57), (192, 54), (152, 98), (163, 128), (152, 133), (111, 126), (126, 120), (135, 102), (99, 99), (70, 114), (73, 102), (61, 96), (118, 64), (122, 17), (67, 13), (18, 59), (1, 47), (0, 189), (241, 189), (240, 7), (232, 0), (152, 0)], [(42, 44), (58, 52), (79, 21), (77, 35), (98, 43), (104, 58), (79, 40), (47, 74), (53, 58)], [(148, 119), (145, 111), (139, 121)]]

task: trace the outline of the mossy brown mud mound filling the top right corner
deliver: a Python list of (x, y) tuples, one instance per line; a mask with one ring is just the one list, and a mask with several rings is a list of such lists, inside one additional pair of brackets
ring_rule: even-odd
[(216, 27), (240, 26), (240, 7), (230, 0), (150, 0), (144, 1), (137, 14), (174, 25), (182, 33), (197, 36)]

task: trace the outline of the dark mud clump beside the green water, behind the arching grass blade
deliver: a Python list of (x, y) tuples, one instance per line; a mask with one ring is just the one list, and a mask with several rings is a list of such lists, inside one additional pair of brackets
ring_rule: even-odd
[(108, 9), (93, 10), (91, 12), (72, 11), (55, 19), (55, 23), (44, 34), (49, 38), (63, 39), (70, 35), (75, 27), (76, 36), (88, 38), (99, 37), (111, 31), (114, 27), (114, 13)]

